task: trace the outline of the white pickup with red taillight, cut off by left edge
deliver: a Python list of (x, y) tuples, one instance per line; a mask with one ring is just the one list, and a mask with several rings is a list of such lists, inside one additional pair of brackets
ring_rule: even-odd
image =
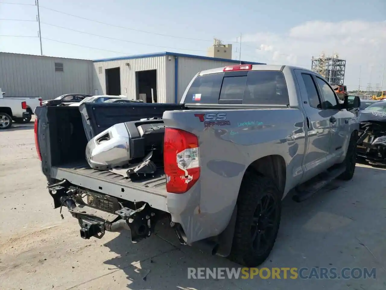
[(13, 120), (31, 119), (26, 101), (20, 98), (3, 97), (4, 94), (5, 92), (0, 88), (0, 130), (10, 128)]

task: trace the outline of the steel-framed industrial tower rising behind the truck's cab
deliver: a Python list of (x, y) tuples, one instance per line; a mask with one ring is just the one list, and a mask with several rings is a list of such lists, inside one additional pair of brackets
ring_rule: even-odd
[(320, 74), (331, 85), (343, 85), (346, 61), (339, 59), (339, 56), (325, 56), (324, 53), (319, 58), (312, 56), (311, 70)]

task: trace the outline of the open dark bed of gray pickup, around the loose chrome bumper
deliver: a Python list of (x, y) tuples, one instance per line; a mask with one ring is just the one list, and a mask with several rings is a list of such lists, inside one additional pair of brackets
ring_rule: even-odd
[(86, 161), (85, 149), (89, 138), (114, 124), (162, 117), (164, 111), (182, 108), (181, 104), (137, 103), (85, 103), (80, 108), (38, 107), (37, 142), (42, 155), (42, 171), (51, 183), (66, 179), (85, 191), (127, 201), (144, 201), (168, 212), (163, 167), (149, 174), (149, 178), (131, 180), (110, 171), (92, 169)]

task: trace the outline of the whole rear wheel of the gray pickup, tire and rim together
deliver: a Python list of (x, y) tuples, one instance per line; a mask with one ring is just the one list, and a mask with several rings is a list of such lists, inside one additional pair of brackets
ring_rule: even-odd
[(230, 259), (247, 267), (263, 263), (279, 231), (281, 194), (274, 182), (247, 173), (237, 200), (237, 219)]

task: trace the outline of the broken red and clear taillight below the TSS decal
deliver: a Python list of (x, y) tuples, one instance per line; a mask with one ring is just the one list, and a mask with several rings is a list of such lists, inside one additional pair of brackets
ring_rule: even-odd
[(200, 178), (200, 152), (196, 135), (165, 128), (164, 169), (166, 191), (185, 193)]

